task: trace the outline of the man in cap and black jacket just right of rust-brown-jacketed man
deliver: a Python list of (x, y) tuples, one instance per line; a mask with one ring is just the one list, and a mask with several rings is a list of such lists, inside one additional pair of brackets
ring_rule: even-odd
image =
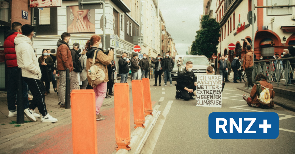
[(72, 54), (72, 59), (73, 59), (73, 67), (74, 70), (71, 72), (71, 82), (70, 82), (70, 89), (71, 91), (74, 89), (79, 89), (79, 80), (78, 80), (78, 62), (79, 62), (79, 57), (78, 54), (81, 52), (80, 44), (79, 43), (74, 43), (73, 44), (73, 49), (71, 49), (71, 54)]

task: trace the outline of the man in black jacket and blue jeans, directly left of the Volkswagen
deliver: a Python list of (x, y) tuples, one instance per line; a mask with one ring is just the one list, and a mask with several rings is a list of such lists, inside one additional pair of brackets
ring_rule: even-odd
[(166, 56), (162, 59), (162, 69), (164, 71), (164, 84), (167, 86), (167, 78), (169, 78), (170, 86), (172, 86), (171, 72), (174, 67), (174, 60), (170, 57), (169, 52), (166, 52)]

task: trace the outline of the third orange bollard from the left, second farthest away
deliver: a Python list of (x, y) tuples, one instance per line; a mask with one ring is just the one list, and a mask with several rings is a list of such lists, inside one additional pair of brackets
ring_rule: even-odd
[(132, 80), (132, 102), (133, 102), (133, 116), (134, 128), (142, 127), (145, 124), (145, 107), (143, 101), (142, 80)]

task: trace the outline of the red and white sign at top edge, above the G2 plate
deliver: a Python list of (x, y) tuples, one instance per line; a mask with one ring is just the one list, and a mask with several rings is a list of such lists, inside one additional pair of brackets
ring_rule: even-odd
[(62, 0), (30, 0), (31, 8), (61, 7)]

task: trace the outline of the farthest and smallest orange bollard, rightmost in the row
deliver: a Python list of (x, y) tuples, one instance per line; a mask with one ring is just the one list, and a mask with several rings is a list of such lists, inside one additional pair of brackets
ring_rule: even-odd
[(142, 78), (142, 84), (143, 84), (143, 94), (144, 94), (144, 101), (145, 101), (145, 116), (149, 114), (153, 115), (152, 99), (150, 97), (150, 79)]

